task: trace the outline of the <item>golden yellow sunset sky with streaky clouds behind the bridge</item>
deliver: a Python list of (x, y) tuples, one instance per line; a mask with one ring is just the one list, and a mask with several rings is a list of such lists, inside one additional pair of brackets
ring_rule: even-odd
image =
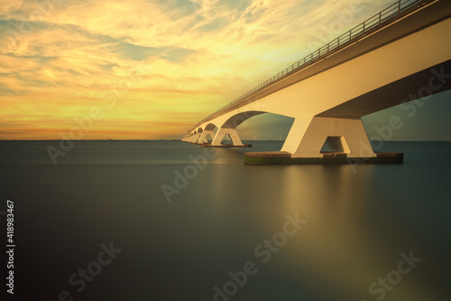
[[(181, 138), (391, 3), (0, 0), (0, 139)], [(391, 138), (451, 139), (449, 97), (429, 99)], [(396, 109), (365, 117), (368, 135), (405, 115)], [(283, 139), (291, 122), (263, 114), (238, 130)]]

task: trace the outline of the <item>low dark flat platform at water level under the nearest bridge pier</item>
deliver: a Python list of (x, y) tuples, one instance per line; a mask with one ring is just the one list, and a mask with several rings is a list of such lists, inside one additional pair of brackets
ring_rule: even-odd
[(287, 152), (244, 153), (246, 165), (321, 165), (321, 164), (400, 164), (402, 153), (376, 153), (375, 157), (348, 157), (343, 153), (326, 153), (322, 158), (292, 158)]

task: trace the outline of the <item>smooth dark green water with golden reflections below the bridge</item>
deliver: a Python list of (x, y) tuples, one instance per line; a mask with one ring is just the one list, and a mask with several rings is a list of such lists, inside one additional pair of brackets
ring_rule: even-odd
[(281, 147), (252, 143), (81, 141), (53, 165), (58, 142), (1, 142), (0, 299), (451, 299), (451, 143), (384, 143), (403, 165), (244, 165)]

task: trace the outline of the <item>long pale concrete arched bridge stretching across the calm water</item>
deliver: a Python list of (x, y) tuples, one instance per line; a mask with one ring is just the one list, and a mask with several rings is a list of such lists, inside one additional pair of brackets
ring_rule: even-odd
[(244, 146), (236, 127), (273, 113), (294, 121), (269, 156), (323, 158), (326, 143), (335, 156), (377, 157), (363, 116), (451, 89), (450, 16), (449, 0), (399, 0), (202, 119), (182, 141), (222, 146), (228, 135)]

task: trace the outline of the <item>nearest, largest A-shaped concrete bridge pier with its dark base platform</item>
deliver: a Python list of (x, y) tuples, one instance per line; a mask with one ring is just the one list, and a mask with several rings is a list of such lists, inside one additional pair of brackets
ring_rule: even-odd
[[(310, 120), (310, 121), (308, 121)], [(323, 151), (327, 145), (329, 150)], [(298, 118), (281, 152), (245, 153), (250, 165), (402, 163), (399, 153), (378, 153), (361, 118)]]

